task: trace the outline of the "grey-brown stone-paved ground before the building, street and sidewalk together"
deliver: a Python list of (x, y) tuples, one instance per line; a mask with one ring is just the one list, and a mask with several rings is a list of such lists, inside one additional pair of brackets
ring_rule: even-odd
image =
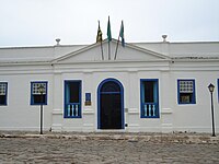
[(218, 137), (142, 133), (0, 134), (0, 163), (219, 163)]

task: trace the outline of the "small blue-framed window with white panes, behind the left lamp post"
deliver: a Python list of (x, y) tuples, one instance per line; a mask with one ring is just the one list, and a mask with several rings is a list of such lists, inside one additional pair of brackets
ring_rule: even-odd
[(31, 105), (41, 104), (47, 105), (47, 82), (31, 82)]

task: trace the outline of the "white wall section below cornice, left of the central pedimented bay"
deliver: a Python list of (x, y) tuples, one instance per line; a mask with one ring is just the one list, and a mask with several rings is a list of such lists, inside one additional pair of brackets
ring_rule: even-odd
[(51, 74), (0, 75), (8, 82), (8, 105), (0, 106), (1, 130), (38, 130), (39, 106), (31, 105), (31, 81), (48, 81), (48, 105), (44, 106), (44, 129), (49, 130), (53, 110)]

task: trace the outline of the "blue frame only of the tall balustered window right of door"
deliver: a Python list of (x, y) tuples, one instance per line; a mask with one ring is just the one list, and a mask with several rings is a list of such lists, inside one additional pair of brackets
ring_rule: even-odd
[[(154, 102), (145, 102), (145, 85), (143, 82), (151, 81), (155, 82), (153, 85), (153, 98)], [(145, 105), (154, 105), (157, 107), (155, 114), (153, 116), (145, 116)], [(140, 118), (160, 118), (160, 109), (159, 109), (159, 79), (140, 79)]]

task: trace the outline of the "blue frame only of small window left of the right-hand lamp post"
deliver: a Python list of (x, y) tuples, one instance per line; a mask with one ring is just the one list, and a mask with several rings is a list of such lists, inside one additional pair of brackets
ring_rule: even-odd
[[(192, 96), (191, 103), (181, 102), (181, 96), (180, 96), (180, 82), (181, 81), (193, 81), (193, 96)], [(178, 105), (196, 104), (195, 79), (177, 79), (177, 103), (178, 103)]]

